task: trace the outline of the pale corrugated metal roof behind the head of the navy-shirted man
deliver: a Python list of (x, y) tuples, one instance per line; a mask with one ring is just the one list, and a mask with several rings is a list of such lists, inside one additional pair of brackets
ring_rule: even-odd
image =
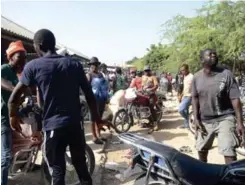
[[(10, 19), (4, 17), (1, 15), (1, 28), (6, 30), (6, 31), (9, 31), (9, 32), (12, 32), (12, 33), (15, 33), (17, 35), (20, 35), (22, 37), (25, 37), (25, 38), (28, 38), (30, 40), (33, 40), (33, 37), (34, 37), (34, 32), (26, 29), (25, 27), (11, 21)], [(79, 51), (76, 51), (74, 49), (71, 49), (71, 48), (68, 48), (60, 43), (57, 43), (56, 44), (56, 48), (60, 49), (60, 48), (67, 48), (67, 50), (69, 51), (69, 54), (73, 55), (73, 54), (76, 54), (80, 57), (83, 57), (85, 59), (89, 59), (89, 57), (87, 57), (86, 55), (80, 53)]]

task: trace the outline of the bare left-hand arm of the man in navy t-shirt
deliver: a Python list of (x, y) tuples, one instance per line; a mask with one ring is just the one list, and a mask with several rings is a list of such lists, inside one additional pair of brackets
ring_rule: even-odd
[(17, 110), (18, 110), (18, 107), (20, 105), (20, 100), (21, 100), (21, 95), (26, 91), (28, 87), (25, 86), (24, 84), (22, 84), (21, 82), (19, 82), (10, 98), (9, 98), (9, 101), (8, 101), (8, 109), (9, 109), (9, 116), (10, 117), (14, 117), (16, 116), (16, 113), (17, 113)]

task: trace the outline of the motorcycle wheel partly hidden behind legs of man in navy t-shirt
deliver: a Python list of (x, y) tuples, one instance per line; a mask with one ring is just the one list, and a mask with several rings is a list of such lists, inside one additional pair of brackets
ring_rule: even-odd
[[(89, 173), (92, 175), (95, 168), (95, 157), (93, 150), (90, 146), (86, 145), (85, 148), (86, 162), (88, 166)], [(66, 175), (65, 175), (65, 183), (66, 185), (80, 185), (79, 178), (77, 176), (76, 170), (71, 162), (71, 155), (69, 150), (67, 150), (66, 155)], [(48, 165), (43, 160), (42, 162), (42, 179), (44, 180), (45, 185), (51, 185), (51, 175), (49, 173)]]

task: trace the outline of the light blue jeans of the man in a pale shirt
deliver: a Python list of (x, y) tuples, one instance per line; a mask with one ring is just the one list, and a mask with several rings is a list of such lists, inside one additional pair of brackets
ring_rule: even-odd
[(184, 127), (189, 128), (189, 106), (191, 105), (191, 97), (183, 97), (179, 105), (179, 113), (184, 118)]

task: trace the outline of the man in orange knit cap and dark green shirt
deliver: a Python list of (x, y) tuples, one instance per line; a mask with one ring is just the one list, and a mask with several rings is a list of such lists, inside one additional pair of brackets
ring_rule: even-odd
[(1, 66), (1, 185), (8, 181), (11, 160), (11, 128), (8, 116), (8, 100), (18, 83), (17, 74), (24, 68), (26, 50), (21, 41), (11, 42), (6, 50), (9, 63)]

